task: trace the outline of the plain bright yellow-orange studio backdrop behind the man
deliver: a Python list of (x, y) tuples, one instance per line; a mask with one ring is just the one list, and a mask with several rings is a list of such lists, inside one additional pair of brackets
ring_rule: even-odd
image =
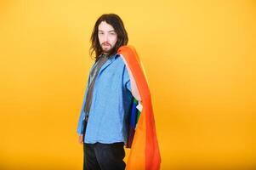
[(77, 121), (101, 14), (151, 88), (162, 169), (251, 169), (256, 2), (0, 1), (0, 169), (82, 169)]

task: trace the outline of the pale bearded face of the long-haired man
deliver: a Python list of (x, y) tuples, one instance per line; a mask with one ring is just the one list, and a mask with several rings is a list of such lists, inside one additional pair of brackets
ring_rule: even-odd
[(117, 32), (111, 25), (102, 21), (98, 27), (98, 37), (103, 54), (109, 54), (117, 42)]

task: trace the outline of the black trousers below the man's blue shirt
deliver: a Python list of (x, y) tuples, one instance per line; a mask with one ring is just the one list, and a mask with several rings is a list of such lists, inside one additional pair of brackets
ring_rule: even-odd
[(83, 143), (83, 170), (124, 170), (123, 142), (113, 144)]

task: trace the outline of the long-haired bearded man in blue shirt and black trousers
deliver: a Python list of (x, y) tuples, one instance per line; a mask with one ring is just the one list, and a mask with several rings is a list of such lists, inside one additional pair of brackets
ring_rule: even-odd
[(128, 138), (128, 112), (132, 105), (126, 65), (117, 49), (128, 43), (128, 34), (117, 14), (103, 14), (91, 35), (90, 70), (77, 125), (83, 144), (83, 169), (125, 169), (124, 144)]

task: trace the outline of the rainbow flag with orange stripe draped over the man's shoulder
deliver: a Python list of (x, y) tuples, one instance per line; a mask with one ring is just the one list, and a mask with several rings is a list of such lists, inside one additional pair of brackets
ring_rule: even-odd
[(134, 97), (129, 117), (127, 147), (130, 154), (126, 169), (159, 170), (161, 156), (145, 70), (134, 47), (122, 46), (117, 53), (127, 66)]

